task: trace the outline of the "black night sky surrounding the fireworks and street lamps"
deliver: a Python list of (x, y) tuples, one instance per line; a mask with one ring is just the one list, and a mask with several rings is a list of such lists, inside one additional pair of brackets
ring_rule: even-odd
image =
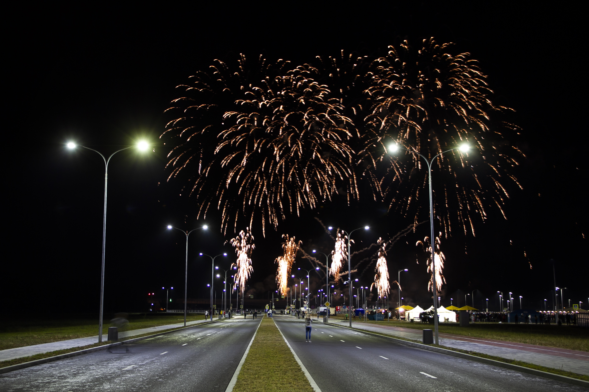
[[(448, 284), (442, 304), (453, 297), (462, 306), (466, 292), (479, 290), (475, 307), (488, 297), (495, 310), (501, 290), (523, 296), (524, 308), (538, 308), (544, 299), (551, 306), (553, 265), (557, 286), (567, 287), (565, 301), (587, 304), (585, 43), (578, 10), (496, 2), (481, 8), (466, 2), (387, 2), (364, 9), (351, 4), (13, 9), (4, 35), (4, 308), (98, 312), (104, 165), (96, 153), (71, 152), (65, 142), (104, 153), (140, 138), (154, 143), (155, 152), (115, 155), (108, 183), (105, 311), (145, 311), (145, 294), (160, 295), (162, 286), (175, 287), (175, 300), (183, 296), (185, 239), (166, 225), (193, 229), (205, 223), (196, 221), (190, 197), (166, 183), (168, 149), (158, 137), (171, 119), (164, 110), (178, 97), (175, 86), (213, 59), (230, 60), (241, 52), (300, 63), (340, 49), (382, 52), (399, 39), (429, 36), (455, 42), (458, 51), (480, 61), (495, 103), (516, 110), (509, 120), (522, 131), (509, 142), (527, 155), (517, 173), (524, 190), (511, 194), (508, 219), (494, 210), (475, 227), (475, 237), (454, 232), (443, 240)], [(315, 218), (346, 230), (369, 225), (355, 232), (356, 250), (411, 223), (380, 203), (348, 206), (336, 199), (288, 217), (265, 238), (254, 227), (249, 293), (261, 298), (276, 289), (274, 259), (282, 254), (283, 233), (302, 240), (307, 252), (333, 249)], [(225, 268), (235, 259), (224, 244), (233, 233), (223, 236), (215, 213), (206, 224), (207, 232), (191, 234), (189, 298), (209, 296), (210, 260), (198, 252), (229, 253), (219, 263)], [(409, 269), (401, 277), (403, 296), (422, 307), (431, 303), (427, 256), (415, 243), (428, 234), (427, 224), (419, 226), (388, 255), (391, 281), (399, 269)], [(310, 264), (299, 257), (297, 267)], [(373, 271), (374, 264), (353, 276), (357, 286), (372, 283)], [(324, 275), (312, 277), (313, 290), (319, 282)], [(396, 301), (396, 293), (391, 299)]]

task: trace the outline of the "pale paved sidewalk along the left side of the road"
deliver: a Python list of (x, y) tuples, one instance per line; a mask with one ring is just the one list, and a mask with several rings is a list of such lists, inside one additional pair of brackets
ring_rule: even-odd
[[(194, 324), (205, 323), (205, 320), (188, 321), (186, 326), (192, 326)], [(163, 330), (183, 327), (184, 323), (168, 324), (166, 326), (151, 327), (134, 329), (130, 331), (124, 331), (118, 333), (118, 338), (130, 337), (141, 335), (144, 333), (158, 333)], [(102, 335), (102, 341), (107, 341), (108, 335)], [(8, 361), (20, 357), (28, 357), (35, 354), (49, 353), (51, 351), (72, 349), (73, 347), (87, 346), (88, 344), (98, 343), (98, 335), (81, 337), (79, 339), (70, 339), (62, 341), (54, 341), (52, 343), (35, 344), (34, 346), (16, 347), (15, 349), (0, 350), (0, 361)]]

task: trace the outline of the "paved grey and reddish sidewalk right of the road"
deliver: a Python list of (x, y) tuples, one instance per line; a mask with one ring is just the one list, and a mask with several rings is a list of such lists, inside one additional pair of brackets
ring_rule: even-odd
[[(331, 321), (333, 324), (348, 326), (349, 321)], [(352, 322), (352, 327), (375, 333), (384, 333), (411, 340), (422, 340), (418, 329), (378, 326)], [(589, 353), (586, 351), (557, 349), (555, 347), (535, 346), (534, 344), (514, 343), (512, 341), (484, 339), (455, 334), (439, 334), (441, 346), (475, 351), (505, 359), (518, 360), (539, 366), (551, 367), (589, 376)]]

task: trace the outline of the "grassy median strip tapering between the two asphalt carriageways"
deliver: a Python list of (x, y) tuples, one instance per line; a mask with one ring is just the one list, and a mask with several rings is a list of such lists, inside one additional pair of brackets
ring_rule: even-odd
[(313, 392), (272, 319), (263, 317), (234, 392)]

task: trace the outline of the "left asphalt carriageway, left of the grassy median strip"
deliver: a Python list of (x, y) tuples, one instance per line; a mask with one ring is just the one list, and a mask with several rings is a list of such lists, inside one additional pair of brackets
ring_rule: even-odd
[(12, 371), (0, 375), (0, 391), (224, 391), (260, 320), (236, 317)]

